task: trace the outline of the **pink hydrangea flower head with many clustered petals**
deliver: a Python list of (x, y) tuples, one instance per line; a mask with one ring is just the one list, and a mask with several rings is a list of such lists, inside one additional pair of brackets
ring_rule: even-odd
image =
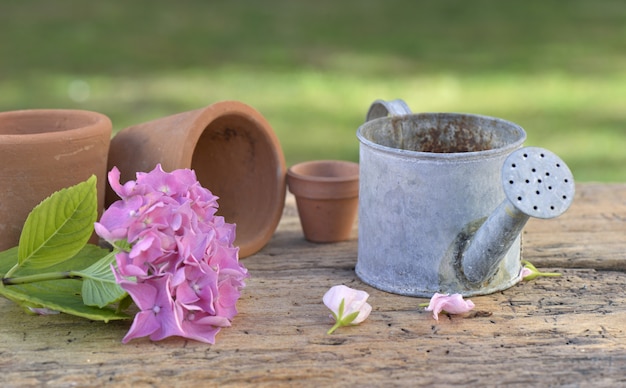
[(248, 271), (239, 262), (235, 225), (215, 215), (217, 197), (192, 170), (171, 173), (157, 165), (120, 184), (120, 196), (95, 224), (117, 250), (113, 271), (140, 312), (122, 342), (181, 336), (214, 343), (237, 314)]

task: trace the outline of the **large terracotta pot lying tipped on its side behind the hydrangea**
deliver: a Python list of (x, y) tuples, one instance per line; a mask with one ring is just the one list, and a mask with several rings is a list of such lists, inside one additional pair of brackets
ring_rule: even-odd
[[(237, 224), (240, 257), (274, 234), (285, 204), (285, 159), (272, 127), (250, 106), (219, 102), (126, 128), (111, 141), (108, 168), (117, 166), (122, 183), (158, 163), (166, 171), (193, 169), (220, 197), (218, 214)], [(117, 199), (109, 188), (107, 205)]]

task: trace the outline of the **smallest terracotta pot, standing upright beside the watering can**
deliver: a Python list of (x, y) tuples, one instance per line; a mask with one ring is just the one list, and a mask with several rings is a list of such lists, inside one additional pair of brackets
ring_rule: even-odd
[(318, 160), (287, 171), (289, 191), (296, 197), (304, 237), (313, 242), (350, 238), (359, 202), (359, 165)]

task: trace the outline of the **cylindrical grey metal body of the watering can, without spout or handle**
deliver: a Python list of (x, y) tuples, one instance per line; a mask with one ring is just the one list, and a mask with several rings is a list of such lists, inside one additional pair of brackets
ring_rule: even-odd
[(526, 138), (511, 122), (467, 114), (381, 117), (360, 141), (357, 275), (393, 293), (431, 296), (502, 290), (520, 279), (520, 238), (476, 284), (461, 256), (504, 199), (501, 168)]

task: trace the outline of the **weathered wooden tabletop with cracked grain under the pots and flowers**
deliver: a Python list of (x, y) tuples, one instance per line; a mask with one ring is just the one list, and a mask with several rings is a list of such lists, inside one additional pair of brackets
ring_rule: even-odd
[[(426, 299), (388, 294), (354, 273), (351, 241), (304, 240), (293, 199), (258, 254), (233, 326), (217, 344), (120, 340), (130, 322), (27, 316), (0, 300), (2, 386), (626, 384), (626, 185), (583, 184), (563, 216), (531, 220), (524, 258), (539, 278), (437, 322)], [(345, 284), (370, 293), (370, 317), (327, 335), (322, 295)]]

